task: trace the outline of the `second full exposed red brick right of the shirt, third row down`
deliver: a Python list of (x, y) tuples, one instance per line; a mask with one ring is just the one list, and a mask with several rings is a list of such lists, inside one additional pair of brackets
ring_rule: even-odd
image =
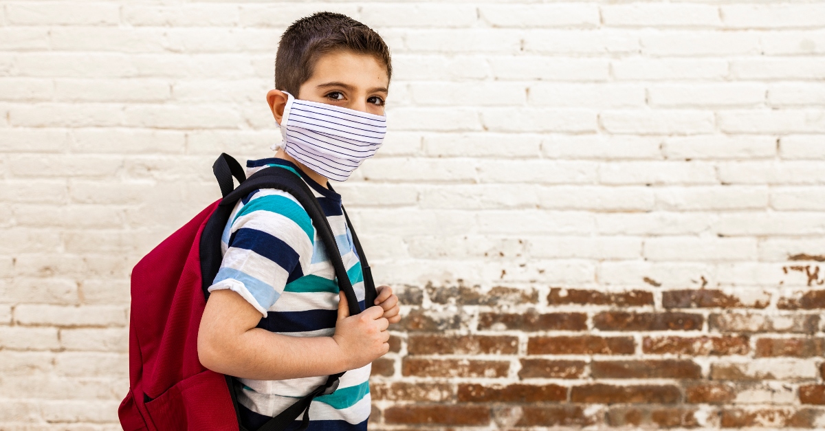
[(629, 355), (636, 346), (633, 337), (530, 337), (527, 354), (530, 355)]

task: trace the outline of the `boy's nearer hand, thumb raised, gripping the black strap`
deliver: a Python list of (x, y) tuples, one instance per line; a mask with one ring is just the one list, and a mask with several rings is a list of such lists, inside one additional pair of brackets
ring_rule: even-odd
[(338, 320), (332, 339), (347, 358), (347, 370), (364, 367), (389, 352), (389, 321), (381, 315), (384, 309), (373, 306), (358, 315), (350, 315), (347, 296), (338, 293)]

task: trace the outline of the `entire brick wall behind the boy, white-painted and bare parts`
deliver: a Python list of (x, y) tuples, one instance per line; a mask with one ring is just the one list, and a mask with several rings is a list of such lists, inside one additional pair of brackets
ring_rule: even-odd
[[(342, 184), (374, 429), (825, 426), (823, 2), (0, 2), (0, 429), (119, 429), (130, 268), (260, 158), (277, 38), (394, 54)], [(432, 427), (432, 428), (431, 428)]]

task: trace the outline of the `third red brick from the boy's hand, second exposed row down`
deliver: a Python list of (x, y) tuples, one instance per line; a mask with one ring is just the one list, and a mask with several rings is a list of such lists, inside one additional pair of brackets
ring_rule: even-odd
[(690, 313), (627, 313), (605, 311), (593, 317), (603, 331), (664, 331), (702, 329), (702, 315)]

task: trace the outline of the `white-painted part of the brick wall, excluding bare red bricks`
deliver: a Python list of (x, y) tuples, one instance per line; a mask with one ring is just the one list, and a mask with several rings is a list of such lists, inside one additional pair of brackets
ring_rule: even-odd
[[(825, 255), (822, 2), (4, 0), (0, 429), (119, 429), (130, 269), (220, 152), (271, 154), (277, 40), (319, 10), (394, 55), (389, 137), (339, 186), (379, 282), (818, 286), (785, 267)], [(766, 388), (737, 402), (797, 402)]]

